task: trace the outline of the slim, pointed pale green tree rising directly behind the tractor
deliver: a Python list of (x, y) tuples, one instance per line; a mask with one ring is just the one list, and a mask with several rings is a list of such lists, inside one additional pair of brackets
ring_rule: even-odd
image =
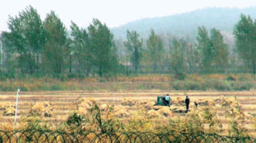
[(151, 29), (149, 39), (147, 40), (147, 47), (149, 48), (150, 62), (152, 62), (153, 72), (156, 73), (162, 54), (164, 53), (164, 46), (162, 39), (155, 35), (153, 29)]

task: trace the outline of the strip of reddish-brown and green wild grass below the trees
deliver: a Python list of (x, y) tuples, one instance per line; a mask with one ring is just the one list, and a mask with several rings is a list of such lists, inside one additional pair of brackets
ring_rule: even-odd
[(0, 78), (0, 91), (79, 91), (79, 90), (256, 90), (256, 75), (187, 75), (177, 80), (172, 74), (145, 74), (113, 77), (22, 76)]

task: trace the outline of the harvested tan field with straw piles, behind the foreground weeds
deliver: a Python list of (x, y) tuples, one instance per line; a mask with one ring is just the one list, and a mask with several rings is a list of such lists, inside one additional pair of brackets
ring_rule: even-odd
[[(170, 108), (154, 106), (157, 95), (169, 93), (173, 104)], [(190, 98), (190, 112), (200, 111), (209, 108), (213, 117), (221, 124), (220, 132), (230, 128), (231, 114), (235, 114), (241, 127), (256, 136), (256, 91), (239, 91), (239, 92), (219, 92), (219, 91), (186, 91), (185, 95)], [(130, 116), (140, 117), (138, 111), (147, 112), (152, 119), (159, 116), (161, 119), (185, 119), (185, 99), (183, 91), (58, 91), (58, 92), (38, 92), (38, 93), (21, 93), (19, 96), (19, 106), (17, 113), (17, 122), (22, 116), (29, 114), (39, 114), (42, 123), (58, 124), (66, 122), (74, 111), (80, 114), (86, 114), (88, 106), (86, 104), (97, 104), (102, 109), (102, 118), (107, 116), (106, 110), (110, 106), (114, 107), (116, 118), (124, 120)], [(237, 98), (235, 98), (235, 96)], [(91, 101), (92, 103), (88, 103)], [(195, 108), (194, 102), (199, 103)], [(16, 95), (15, 93), (1, 93), (0, 96), (0, 122), (4, 124), (13, 124)], [(95, 103), (94, 103), (95, 102)], [(11, 110), (7, 114), (8, 109)], [(176, 109), (177, 108), (177, 109)], [(234, 113), (233, 109), (238, 109), (239, 113)], [(160, 116), (161, 115), (161, 116)], [(125, 122), (125, 121), (124, 121)], [(205, 127), (209, 124), (205, 122)]]

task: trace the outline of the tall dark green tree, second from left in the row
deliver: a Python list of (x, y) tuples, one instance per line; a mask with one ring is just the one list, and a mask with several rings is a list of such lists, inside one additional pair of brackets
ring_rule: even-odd
[(50, 72), (62, 73), (66, 65), (65, 60), (69, 57), (66, 27), (53, 11), (47, 14), (44, 27), (46, 29), (44, 66)]

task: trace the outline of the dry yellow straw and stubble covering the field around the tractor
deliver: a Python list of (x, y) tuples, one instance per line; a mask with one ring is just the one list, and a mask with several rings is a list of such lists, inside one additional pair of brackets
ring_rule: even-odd
[[(250, 91), (250, 94), (253, 92), (254, 91)], [(209, 94), (210, 93), (215, 92), (209, 92)], [(130, 93), (127, 94), (129, 95)], [(67, 121), (67, 118), (71, 116), (72, 113), (79, 113), (89, 118), (88, 115), (91, 114), (92, 109), (97, 105), (101, 111), (102, 121), (121, 122), (123, 126), (130, 127), (132, 131), (133, 129), (150, 131), (157, 129), (160, 125), (164, 126), (164, 124), (170, 122), (170, 120), (185, 122), (186, 119), (193, 120), (196, 115), (207, 130), (217, 129), (227, 134), (228, 130), (232, 130), (232, 122), (236, 121), (237, 126), (241, 129), (245, 129), (248, 134), (253, 135), (256, 132), (255, 111), (252, 111), (256, 109), (256, 106), (254, 104), (246, 104), (247, 102), (256, 102), (255, 97), (190, 96), (190, 112), (188, 114), (180, 114), (175, 113), (175, 111), (185, 111), (184, 93), (179, 93), (183, 96), (171, 96), (174, 104), (172, 104), (170, 108), (154, 106), (156, 95), (149, 95), (149, 93), (144, 94), (148, 96), (140, 96), (140, 94), (138, 94), (123, 97), (123, 95), (112, 94), (108, 96), (94, 95), (94, 97), (89, 96), (83, 98), (79, 96), (72, 97), (71, 95), (66, 97), (47, 95), (47, 98), (45, 96), (36, 96), (36, 99), (34, 99), (33, 96), (26, 96), (24, 99), (21, 97), (18, 112), (19, 127), (27, 127), (29, 125), (26, 122), (36, 120), (35, 118), (28, 118), (29, 111), (40, 113), (41, 116), (39, 120), (41, 123), (46, 122), (48, 126), (57, 127), (61, 122)], [(175, 95), (177, 93), (173, 94)], [(190, 93), (186, 94), (189, 95)], [(191, 92), (191, 94), (200, 95), (201, 93)], [(230, 94), (236, 95), (237, 93), (231, 92)], [(243, 95), (244, 93), (240, 94)], [(217, 95), (220, 95), (220, 93)], [(6, 100), (0, 102), (1, 107), (3, 106), (2, 103), (4, 103), (3, 107), (13, 107), (15, 100), (8, 102), (8, 99), (12, 99), (12, 97), (6, 96), (4, 99)], [(195, 109), (194, 101), (200, 103), (197, 109)], [(207, 111), (207, 109), (209, 110)], [(46, 111), (51, 111), (50, 114), (52, 116), (44, 116)], [(113, 121), (113, 119), (115, 120)], [(13, 120), (14, 116), (1, 116), (0, 128), (11, 130)], [(91, 121), (91, 118), (89, 118), (89, 121)], [(130, 124), (129, 122), (132, 123)], [(137, 128), (132, 127), (135, 126), (135, 124), (141, 124), (141, 126)], [(222, 127), (219, 127), (220, 124)], [(89, 125), (87, 124), (86, 126)], [(90, 129), (94, 129), (94, 127), (96, 127), (95, 124), (94, 126), (90, 125)]]

